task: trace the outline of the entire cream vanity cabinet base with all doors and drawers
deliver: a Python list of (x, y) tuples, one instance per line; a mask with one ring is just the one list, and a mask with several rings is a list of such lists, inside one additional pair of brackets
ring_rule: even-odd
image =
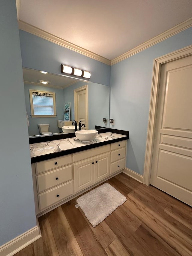
[(125, 168), (126, 140), (32, 164), (39, 217)]

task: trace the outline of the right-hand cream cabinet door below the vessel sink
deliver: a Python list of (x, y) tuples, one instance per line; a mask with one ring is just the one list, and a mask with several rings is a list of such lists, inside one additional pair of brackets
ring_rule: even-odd
[(95, 182), (110, 175), (110, 153), (95, 157)]

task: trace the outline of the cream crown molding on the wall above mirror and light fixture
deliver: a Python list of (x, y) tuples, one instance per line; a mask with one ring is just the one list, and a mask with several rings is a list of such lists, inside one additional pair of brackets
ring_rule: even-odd
[(55, 35), (52, 35), (52, 34), (46, 32), (42, 29), (39, 29), (35, 26), (32, 26), (29, 23), (26, 23), (22, 20), (19, 20), (18, 24), (19, 24), (19, 29), (21, 29), (23, 31), (29, 32), (33, 35), (36, 35), (36, 36), (41, 37), (43, 39), (46, 39), (46, 40), (48, 40), (52, 43), (58, 44), (58, 45), (63, 46), (65, 48), (68, 48), (68, 49), (70, 49), (72, 51), (75, 51), (77, 53), (83, 54), (83, 55), (85, 55), (89, 58), (92, 58), (92, 59), (98, 60), (100, 62), (103, 62), (107, 65), (111, 65), (111, 61), (109, 59), (106, 59), (106, 58), (104, 58), (104, 57), (102, 57), (102, 56), (100, 56), (96, 53), (92, 53), (92, 52), (90, 52), (90, 51), (88, 51), (84, 48), (81, 48), (81, 47), (79, 47), (75, 44), (72, 44), (68, 41), (65, 41), (65, 40), (63, 40), (63, 39), (61, 39), (61, 38), (59, 38)]

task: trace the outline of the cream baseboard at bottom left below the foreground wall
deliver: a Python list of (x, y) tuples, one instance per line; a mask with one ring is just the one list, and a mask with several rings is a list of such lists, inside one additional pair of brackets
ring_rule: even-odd
[(6, 244), (0, 247), (0, 255), (1, 256), (13, 256), (17, 252), (21, 251), (26, 246), (35, 242), (37, 239), (41, 237), (41, 230), (39, 228), (39, 223), (37, 219), (37, 226), (32, 229), (26, 231), (20, 236), (17, 236), (13, 240), (7, 242)]

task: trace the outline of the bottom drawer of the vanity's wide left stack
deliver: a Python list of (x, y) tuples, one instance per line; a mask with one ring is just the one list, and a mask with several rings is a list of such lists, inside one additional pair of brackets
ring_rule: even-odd
[(39, 210), (57, 203), (73, 194), (73, 181), (57, 186), (44, 193), (38, 194)]

